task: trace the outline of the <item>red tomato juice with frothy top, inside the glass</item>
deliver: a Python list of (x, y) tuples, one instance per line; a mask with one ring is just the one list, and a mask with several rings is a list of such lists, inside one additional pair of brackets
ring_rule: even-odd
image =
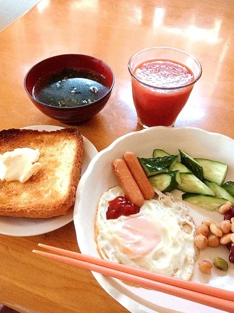
[(172, 60), (151, 59), (140, 63), (133, 74), (133, 99), (141, 126), (173, 126), (194, 87), (192, 70)]

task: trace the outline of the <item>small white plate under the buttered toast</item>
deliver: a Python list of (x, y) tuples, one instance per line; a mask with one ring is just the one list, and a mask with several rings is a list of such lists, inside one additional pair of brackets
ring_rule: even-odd
[[(56, 131), (63, 127), (51, 125), (36, 125), (24, 127), (25, 129), (36, 129), (39, 131)], [(84, 140), (84, 158), (82, 173), (86, 171), (91, 159), (97, 155), (98, 151), (95, 146), (83, 136)], [(9, 216), (0, 216), (0, 234), (9, 236), (35, 236), (47, 233), (49, 231), (58, 229), (73, 220), (73, 212), (68, 215), (61, 215), (50, 219), (26, 219), (15, 218)]]

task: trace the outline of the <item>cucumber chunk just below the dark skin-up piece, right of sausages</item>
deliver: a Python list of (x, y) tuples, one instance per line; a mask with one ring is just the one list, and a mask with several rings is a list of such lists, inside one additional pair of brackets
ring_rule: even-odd
[(149, 178), (152, 186), (161, 192), (169, 192), (178, 186), (180, 183), (179, 171), (169, 172), (167, 174), (158, 174)]

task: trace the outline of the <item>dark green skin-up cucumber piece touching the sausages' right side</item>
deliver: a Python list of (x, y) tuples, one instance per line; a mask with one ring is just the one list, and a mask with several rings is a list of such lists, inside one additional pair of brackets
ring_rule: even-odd
[(170, 168), (176, 163), (178, 156), (163, 156), (157, 158), (138, 157), (140, 165), (147, 177), (156, 174), (167, 173)]

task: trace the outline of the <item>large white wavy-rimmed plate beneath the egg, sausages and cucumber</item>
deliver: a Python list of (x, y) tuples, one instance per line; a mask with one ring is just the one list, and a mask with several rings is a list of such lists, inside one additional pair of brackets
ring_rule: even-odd
[[(94, 240), (94, 224), (100, 195), (117, 185), (117, 179), (112, 173), (111, 161), (121, 157), (125, 151), (133, 151), (140, 157), (151, 157), (154, 149), (163, 149), (171, 154), (178, 154), (178, 149), (182, 149), (191, 156), (225, 162), (229, 164), (226, 180), (234, 180), (234, 140), (229, 137), (196, 128), (166, 127), (154, 127), (126, 134), (93, 158), (79, 182), (74, 223), (82, 253), (99, 257)], [(201, 223), (205, 218), (212, 218), (217, 223), (223, 220), (223, 215), (218, 212), (191, 208), (190, 213), (196, 224)], [(212, 261), (214, 257), (220, 256), (228, 260), (228, 255), (228, 249), (219, 246), (201, 251), (199, 259)], [(228, 272), (213, 268), (212, 275), (209, 276), (199, 271), (196, 262), (193, 281), (234, 290), (234, 265), (229, 263), (229, 268)], [(98, 273), (93, 274), (104, 290), (132, 313), (222, 312), (162, 292), (128, 286), (117, 279)]]

